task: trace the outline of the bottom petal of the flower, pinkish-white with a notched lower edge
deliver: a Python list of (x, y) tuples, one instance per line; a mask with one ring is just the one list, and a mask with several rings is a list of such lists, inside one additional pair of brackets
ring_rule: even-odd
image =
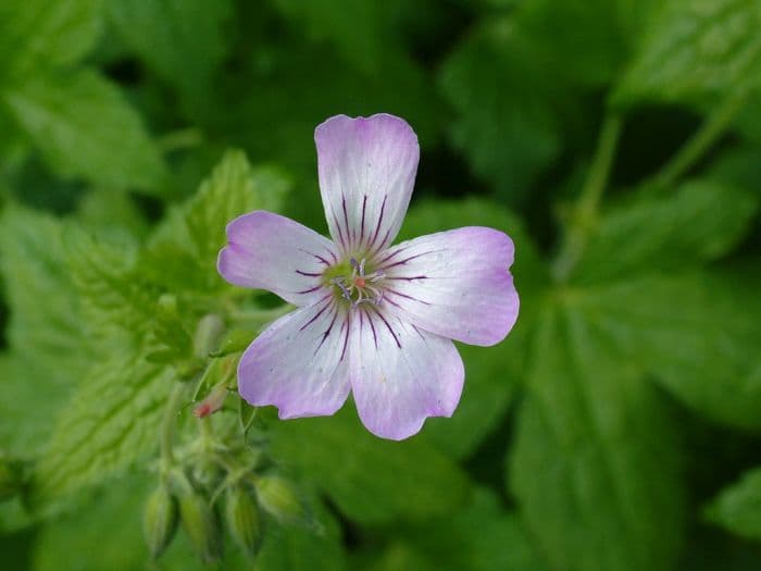
[(367, 307), (351, 314), (351, 387), (362, 423), (401, 440), (428, 417), (451, 417), (465, 372), (449, 339)]

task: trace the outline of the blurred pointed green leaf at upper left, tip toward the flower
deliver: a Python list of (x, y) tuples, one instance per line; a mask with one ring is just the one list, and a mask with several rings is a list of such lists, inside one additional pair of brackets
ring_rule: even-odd
[(159, 190), (165, 166), (139, 115), (91, 71), (34, 75), (0, 100), (60, 176)]

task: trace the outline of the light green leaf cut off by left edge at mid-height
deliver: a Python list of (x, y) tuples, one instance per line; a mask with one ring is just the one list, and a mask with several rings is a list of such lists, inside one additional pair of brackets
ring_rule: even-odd
[(87, 370), (91, 347), (83, 335), (79, 299), (63, 263), (65, 227), (61, 220), (12, 203), (0, 218), (9, 345), (30, 371), (49, 375), (48, 383), (60, 387), (70, 386)]

